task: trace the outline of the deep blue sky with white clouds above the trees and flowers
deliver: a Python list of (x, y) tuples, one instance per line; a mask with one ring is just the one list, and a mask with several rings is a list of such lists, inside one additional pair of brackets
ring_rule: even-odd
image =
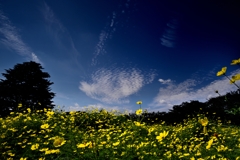
[[(235, 91), (216, 73), (240, 58), (235, 1), (0, 1), (0, 73), (27, 61), (51, 76), (53, 101), (84, 107), (168, 112)], [(2, 75), (0, 78), (4, 79)], [(239, 81), (236, 82), (240, 85)]]

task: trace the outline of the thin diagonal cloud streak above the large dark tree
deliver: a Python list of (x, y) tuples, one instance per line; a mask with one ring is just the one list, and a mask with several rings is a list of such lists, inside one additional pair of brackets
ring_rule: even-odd
[(0, 11), (0, 33), (2, 34), (0, 42), (7, 48), (16, 51), (19, 55), (27, 58), (27, 60), (32, 60), (43, 65), (31, 48), (23, 42), (17, 28), (11, 24), (9, 18), (2, 11)]

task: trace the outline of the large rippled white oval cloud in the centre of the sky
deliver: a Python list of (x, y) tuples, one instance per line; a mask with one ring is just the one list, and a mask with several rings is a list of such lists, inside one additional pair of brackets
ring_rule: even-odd
[(92, 82), (81, 81), (79, 89), (87, 96), (108, 104), (129, 103), (127, 97), (151, 83), (154, 76), (154, 73), (144, 76), (135, 68), (103, 68), (92, 75)]

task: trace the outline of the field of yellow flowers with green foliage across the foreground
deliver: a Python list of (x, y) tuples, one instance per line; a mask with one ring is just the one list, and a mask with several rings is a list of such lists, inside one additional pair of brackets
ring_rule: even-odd
[(3, 160), (237, 160), (240, 128), (219, 120), (195, 118), (167, 126), (124, 114), (88, 109), (85, 112), (30, 109), (0, 118), (0, 159)]

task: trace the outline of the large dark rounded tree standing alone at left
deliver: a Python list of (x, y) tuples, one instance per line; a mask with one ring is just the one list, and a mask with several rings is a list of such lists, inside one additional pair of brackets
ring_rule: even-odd
[[(0, 115), (5, 117), (10, 112), (23, 111), (30, 108), (36, 109), (50, 108), (52, 98), (55, 93), (50, 92), (49, 86), (53, 84), (46, 78), (50, 75), (42, 72), (39, 63), (30, 61), (17, 64), (13, 69), (5, 70), (2, 73), (5, 80), (0, 79)], [(18, 108), (21, 103), (22, 107)]]

